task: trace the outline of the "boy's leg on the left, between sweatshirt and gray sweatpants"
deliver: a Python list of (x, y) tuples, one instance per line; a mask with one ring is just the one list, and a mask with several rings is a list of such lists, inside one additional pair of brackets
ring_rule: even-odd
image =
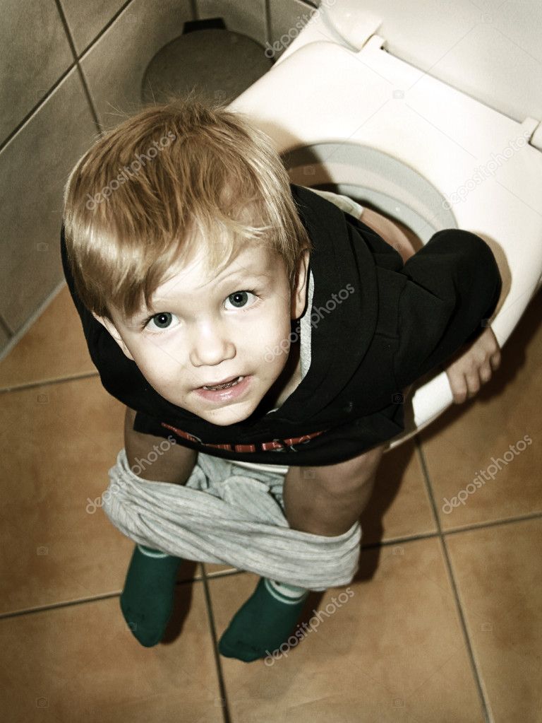
[[(130, 469), (149, 482), (185, 484), (196, 464), (198, 453), (180, 444), (171, 444), (163, 450), (164, 437), (134, 432), (136, 412), (126, 407), (124, 418), (124, 447)], [(161, 446), (162, 445), (162, 446)], [(153, 452), (149, 459), (149, 452)], [(158, 457), (154, 460), (154, 455)], [(154, 461), (152, 461), (154, 460)]]

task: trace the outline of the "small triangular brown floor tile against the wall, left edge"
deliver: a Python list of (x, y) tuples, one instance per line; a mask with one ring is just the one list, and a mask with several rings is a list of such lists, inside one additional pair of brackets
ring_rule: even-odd
[(0, 389), (95, 373), (67, 286), (0, 361)]

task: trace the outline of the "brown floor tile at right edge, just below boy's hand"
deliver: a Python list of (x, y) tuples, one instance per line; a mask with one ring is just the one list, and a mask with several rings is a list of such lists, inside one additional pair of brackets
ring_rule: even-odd
[(420, 432), (443, 529), (542, 511), (540, 299), (476, 397)]

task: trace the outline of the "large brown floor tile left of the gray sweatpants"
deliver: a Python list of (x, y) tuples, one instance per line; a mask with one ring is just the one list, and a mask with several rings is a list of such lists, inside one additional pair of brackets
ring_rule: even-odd
[[(123, 446), (123, 405), (94, 377), (1, 402), (0, 612), (121, 590), (134, 542), (100, 503)], [(180, 579), (195, 570), (185, 562)]]

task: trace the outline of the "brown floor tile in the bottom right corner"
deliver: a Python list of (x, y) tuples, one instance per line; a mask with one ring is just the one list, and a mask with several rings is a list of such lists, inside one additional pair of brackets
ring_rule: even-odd
[(542, 520), (464, 531), (446, 542), (495, 723), (539, 723)]

